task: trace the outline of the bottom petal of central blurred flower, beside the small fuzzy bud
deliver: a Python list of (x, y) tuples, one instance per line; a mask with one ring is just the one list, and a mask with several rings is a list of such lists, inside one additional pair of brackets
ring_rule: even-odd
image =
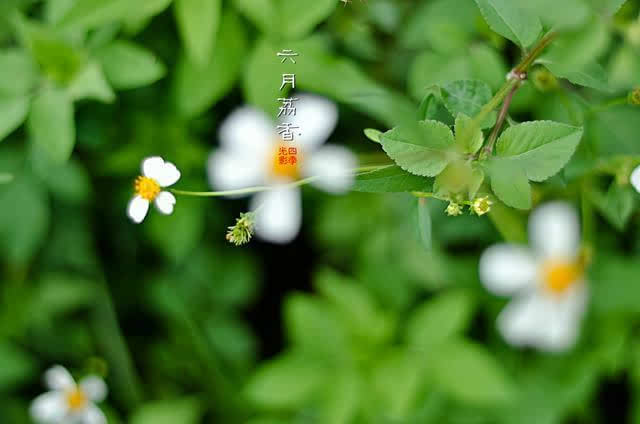
[(256, 235), (272, 243), (293, 240), (302, 224), (300, 190), (278, 187), (256, 194), (251, 199), (251, 210), (256, 214)]

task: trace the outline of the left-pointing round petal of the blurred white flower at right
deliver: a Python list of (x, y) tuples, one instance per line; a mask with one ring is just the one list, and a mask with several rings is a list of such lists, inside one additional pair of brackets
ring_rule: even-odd
[(528, 249), (497, 244), (480, 257), (480, 280), (492, 293), (505, 295), (532, 286), (536, 278), (536, 263)]

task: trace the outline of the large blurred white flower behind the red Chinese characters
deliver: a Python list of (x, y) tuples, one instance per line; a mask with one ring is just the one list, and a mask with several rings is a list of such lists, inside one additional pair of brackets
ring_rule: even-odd
[[(321, 146), (338, 121), (336, 105), (310, 94), (296, 97), (295, 115), (280, 121), (281, 125), (291, 124), (293, 141), (284, 141), (278, 135), (278, 124), (267, 115), (243, 107), (222, 124), (221, 148), (209, 157), (209, 181), (216, 189), (270, 187), (254, 195), (250, 207), (259, 208), (256, 235), (272, 243), (288, 243), (300, 230), (300, 189), (288, 183), (315, 176), (312, 184), (332, 193), (344, 192), (353, 183), (353, 154), (341, 146)], [(283, 160), (283, 155), (290, 160)]]

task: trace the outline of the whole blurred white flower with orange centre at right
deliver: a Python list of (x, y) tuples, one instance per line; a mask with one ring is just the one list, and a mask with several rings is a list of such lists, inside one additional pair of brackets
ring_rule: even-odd
[(529, 219), (529, 238), (532, 249), (510, 244), (487, 249), (480, 278), (489, 291), (516, 296), (497, 323), (509, 343), (566, 350), (576, 342), (588, 298), (575, 210), (563, 202), (537, 208)]

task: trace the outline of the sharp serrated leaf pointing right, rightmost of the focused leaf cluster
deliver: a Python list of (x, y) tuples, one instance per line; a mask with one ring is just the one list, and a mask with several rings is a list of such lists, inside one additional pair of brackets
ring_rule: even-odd
[(509, 160), (513, 165), (509, 168), (522, 169), (529, 180), (544, 181), (567, 164), (582, 133), (580, 127), (557, 122), (526, 122), (502, 133), (496, 144), (496, 157)]

